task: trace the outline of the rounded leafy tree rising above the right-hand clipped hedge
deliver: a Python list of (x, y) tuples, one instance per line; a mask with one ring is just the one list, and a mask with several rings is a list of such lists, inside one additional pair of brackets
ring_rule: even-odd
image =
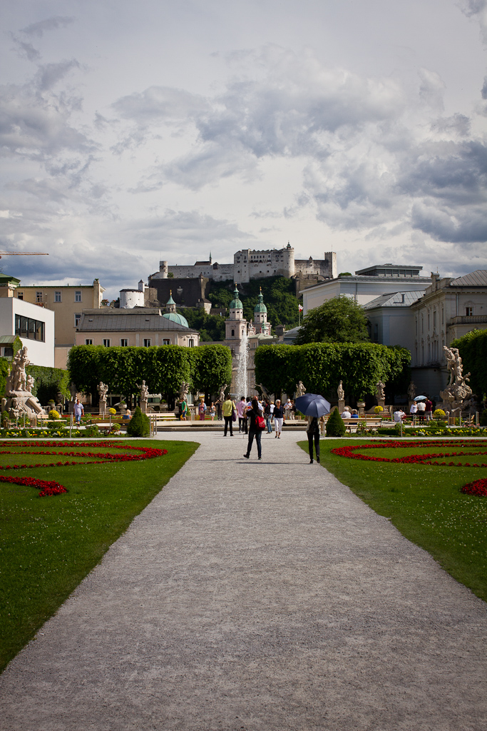
[(307, 313), (296, 345), (360, 343), (367, 340), (369, 333), (364, 309), (348, 297), (334, 297)]

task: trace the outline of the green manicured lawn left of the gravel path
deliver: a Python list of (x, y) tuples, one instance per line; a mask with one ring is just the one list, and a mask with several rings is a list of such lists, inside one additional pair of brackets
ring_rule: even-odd
[[(2, 476), (55, 480), (68, 490), (39, 498), (35, 488), (0, 483), (0, 671), (199, 446), (149, 439), (116, 440), (120, 444), (156, 447), (168, 453), (146, 461), (0, 472)], [(9, 442), (7, 449), (26, 450), (16, 442)], [(42, 444), (34, 449), (47, 447)], [(118, 452), (106, 447), (83, 446), (80, 450)], [(58, 459), (61, 457), (55, 455), (15, 458), (0, 453), (0, 465)], [(69, 457), (69, 461), (85, 460)]]

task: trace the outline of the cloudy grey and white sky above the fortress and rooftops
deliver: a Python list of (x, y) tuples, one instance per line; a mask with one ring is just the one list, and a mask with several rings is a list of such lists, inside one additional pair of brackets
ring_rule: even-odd
[(108, 298), (239, 249), (487, 268), (487, 0), (4, 0), (0, 250)]

